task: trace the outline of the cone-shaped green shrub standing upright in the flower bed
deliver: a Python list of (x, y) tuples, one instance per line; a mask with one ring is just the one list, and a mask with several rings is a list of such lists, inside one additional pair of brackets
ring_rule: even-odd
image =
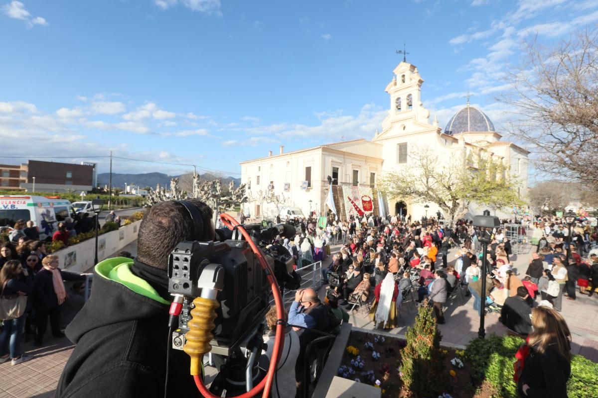
[(431, 397), (443, 392), (449, 374), (444, 374), (442, 335), (432, 314), (434, 310), (427, 300), (423, 303), (413, 327), (407, 328), (405, 334), (407, 345), (401, 351), (401, 372), (405, 387), (416, 397)]

